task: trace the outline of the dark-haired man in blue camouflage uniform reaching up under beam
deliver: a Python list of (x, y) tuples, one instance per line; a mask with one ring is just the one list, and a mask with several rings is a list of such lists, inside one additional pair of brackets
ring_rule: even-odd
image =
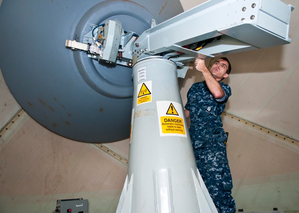
[(205, 81), (194, 83), (189, 89), (185, 115), (190, 117), (189, 132), (197, 167), (218, 212), (234, 213), (233, 184), (223, 142), (227, 136), (220, 116), (231, 96), (231, 88), (220, 81), (228, 77), (231, 64), (227, 58), (219, 58), (208, 70), (204, 60), (196, 59), (195, 68), (202, 72)]

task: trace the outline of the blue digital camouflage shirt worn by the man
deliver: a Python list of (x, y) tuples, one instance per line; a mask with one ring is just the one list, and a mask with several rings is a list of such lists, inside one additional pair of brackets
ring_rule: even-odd
[(222, 99), (214, 98), (205, 81), (194, 83), (187, 93), (185, 109), (190, 111), (189, 132), (195, 149), (227, 140), (220, 115), (231, 96), (231, 88), (223, 82), (220, 85), (225, 92)]

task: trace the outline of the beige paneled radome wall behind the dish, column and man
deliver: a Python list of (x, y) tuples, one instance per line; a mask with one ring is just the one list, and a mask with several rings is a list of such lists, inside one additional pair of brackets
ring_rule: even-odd
[[(184, 10), (202, 2), (181, 0)], [(283, 2), (295, 6), (291, 44), (225, 55), (232, 72), (224, 82), (231, 86), (232, 96), (222, 120), (229, 132), (237, 211), (299, 212), (299, 1)], [(181, 89), (183, 104), (197, 81), (202, 75), (188, 70)], [(1, 74), (3, 127), (0, 212), (50, 213), (56, 200), (81, 197), (89, 200), (89, 212), (116, 211), (126, 178), (128, 139), (81, 143), (48, 131), (17, 104)]]

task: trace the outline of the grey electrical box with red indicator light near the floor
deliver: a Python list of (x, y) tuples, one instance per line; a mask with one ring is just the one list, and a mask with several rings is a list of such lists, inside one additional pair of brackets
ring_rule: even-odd
[(83, 198), (57, 200), (57, 206), (55, 212), (88, 213), (88, 200), (83, 200)]

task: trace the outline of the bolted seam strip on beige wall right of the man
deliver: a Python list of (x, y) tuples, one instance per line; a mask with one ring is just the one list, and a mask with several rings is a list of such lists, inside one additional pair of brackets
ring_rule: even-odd
[(257, 125), (257, 124), (251, 123), (251, 122), (246, 121), (246, 120), (243, 120), (243, 119), (241, 119), (241, 118), (238, 118), (238, 117), (236, 117), (236, 116), (234, 116), (234, 115), (230, 115), (230, 114), (228, 114), (228, 113), (226, 113), (226, 112), (223, 112), (223, 113), (221, 114), (221, 116), (222, 116), (222, 117), (231, 118), (231, 119), (233, 119), (233, 120), (235, 120), (235, 121), (241, 122), (242, 124), (251, 126), (251, 127), (253, 127), (254, 129), (258, 129), (258, 130), (260, 130), (260, 131), (262, 131), (262, 132), (268, 133), (268, 134), (271, 135), (271, 136), (274, 136), (274, 137), (276, 137), (276, 138), (280, 138), (280, 139), (283, 140), (283, 141), (288, 141), (289, 143), (293, 143), (293, 144), (299, 146), (299, 141), (296, 141), (296, 140), (293, 139), (293, 138), (289, 138), (289, 137), (287, 137), (287, 136), (284, 136), (284, 135), (282, 135), (282, 134), (280, 134), (280, 133), (274, 132), (274, 131), (272, 131), (272, 130), (270, 130), (270, 129), (267, 129), (267, 128), (265, 128), (265, 127), (262, 127), (262, 126), (259, 126), (259, 125)]

